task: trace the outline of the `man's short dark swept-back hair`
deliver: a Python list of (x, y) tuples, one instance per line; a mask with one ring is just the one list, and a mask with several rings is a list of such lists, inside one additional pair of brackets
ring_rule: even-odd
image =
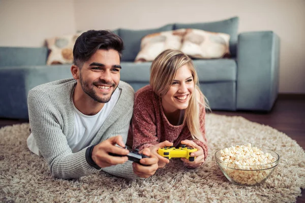
[(88, 30), (75, 41), (73, 62), (79, 68), (95, 54), (98, 49), (114, 49), (121, 58), (124, 49), (123, 40), (110, 30)]

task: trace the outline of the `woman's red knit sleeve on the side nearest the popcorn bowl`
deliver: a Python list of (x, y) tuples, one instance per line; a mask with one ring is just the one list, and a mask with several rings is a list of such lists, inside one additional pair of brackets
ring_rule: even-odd
[[(208, 147), (207, 147), (207, 140), (205, 137), (205, 108), (204, 107), (200, 111), (199, 118), (200, 118), (200, 129), (201, 129), (203, 141), (194, 140), (192, 138), (191, 134), (189, 134), (189, 137), (186, 140), (192, 140), (196, 145), (200, 146), (203, 150), (204, 160), (206, 160), (207, 155), (208, 155)], [(184, 164), (188, 168), (196, 168), (199, 166), (199, 165), (194, 166), (194, 165), (191, 165), (188, 163), (184, 163)]]

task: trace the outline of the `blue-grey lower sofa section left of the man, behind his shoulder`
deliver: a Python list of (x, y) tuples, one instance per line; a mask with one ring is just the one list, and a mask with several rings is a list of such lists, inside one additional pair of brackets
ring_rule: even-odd
[(37, 85), (71, 78), (71, 64), (0, 67), (0, 118), (28, 119), (28, 91)]

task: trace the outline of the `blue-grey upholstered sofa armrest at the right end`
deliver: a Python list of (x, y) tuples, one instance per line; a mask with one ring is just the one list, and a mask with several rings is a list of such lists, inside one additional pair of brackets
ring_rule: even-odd
[(280, 39), (273, 31), (239, 34), (237, 110), (271, 110), (279, 90), (279, 58)]

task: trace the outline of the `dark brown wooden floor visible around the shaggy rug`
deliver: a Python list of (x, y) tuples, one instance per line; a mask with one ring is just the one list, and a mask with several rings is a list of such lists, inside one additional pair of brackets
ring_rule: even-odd
[[(242, 116), (250, 121), (269, 125), (284, 132), (295, 140), (305, 150), (305, 96), (304, 95), (279, 95), (275, 106), (269, 113), (259, 112), (225, 112), (213, 111), (212, 113), (227, 116)], [(0, 127), (28, 122), (27, 120), (1, 119)], [(297, 202), (305, 202), (305, 191), (297, 198)]]

